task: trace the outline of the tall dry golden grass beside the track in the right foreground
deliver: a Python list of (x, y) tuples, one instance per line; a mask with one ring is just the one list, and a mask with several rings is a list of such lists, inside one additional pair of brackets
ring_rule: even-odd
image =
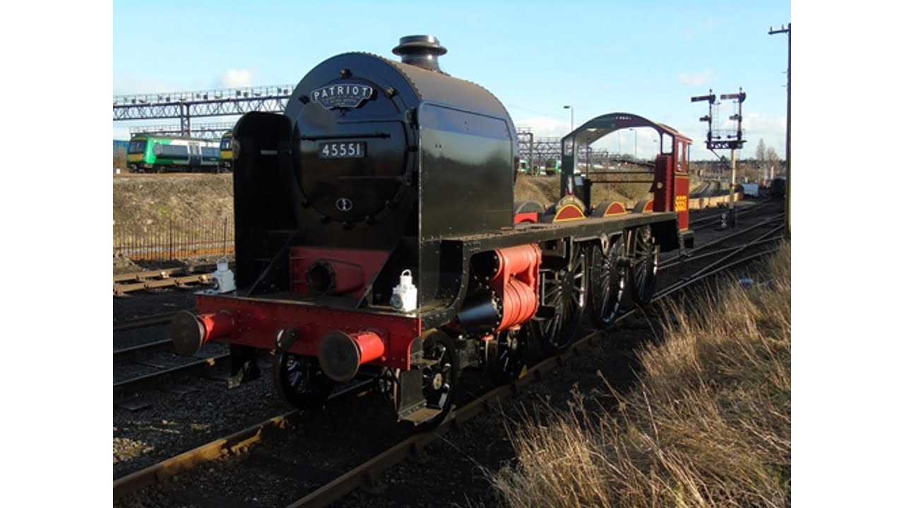
[(729, 285), (699, 312), (672, 306), (616, 409), (575, 394), (569, 411), (510, 428), (518, 462), (490, 475), (504, 502), (789, 506), (789, 246), (765, 273), (767, 287)]

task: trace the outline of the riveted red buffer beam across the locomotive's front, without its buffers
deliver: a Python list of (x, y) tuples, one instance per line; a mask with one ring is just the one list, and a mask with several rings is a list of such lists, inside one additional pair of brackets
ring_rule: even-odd
[[(326, 334), (340, 331), (353, 335), (366, 329), (377, 335), (384, 345), (384, 352), (372, 362), (404, 370), (410, 369), (411, 343), (421, 334), (418, 316), (333, 309), (291, 299), (198, 295), (195, 306), (200, 313), (224, 311), (231, 315), (234, 325), (230, 333), (220, 334), (215, 327), (213, 329), (211, 338), (218, 342), (272, 350), (279, 330), (296, 328), (299, 338), (289, 346), (288, 353), (312, 357), (318, 355)], [(372, 344), (369, 339), (365, 342)], [(373, 351), (371, 345), (365, 346), (367, 351)]]

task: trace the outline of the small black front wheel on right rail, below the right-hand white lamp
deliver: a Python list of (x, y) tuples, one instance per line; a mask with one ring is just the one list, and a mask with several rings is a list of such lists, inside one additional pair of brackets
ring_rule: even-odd
[(420, 422), (420, 429), (435, 428), (446, 419), (452, 409), (452, 396), (458, 379), (458, 358), (452, 339), (438, 330), (424, 336), (424, 360), (421, 370), (422, 390), (429, 409), (439, 413)]

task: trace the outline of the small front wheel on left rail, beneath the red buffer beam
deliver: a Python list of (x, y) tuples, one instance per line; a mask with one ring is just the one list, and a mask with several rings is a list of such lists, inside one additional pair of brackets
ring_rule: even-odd
[(279, 395), (297, 409), (322, 407), (334, 384), (316, 358), (292, 353), (277, 355), (273, 377)]

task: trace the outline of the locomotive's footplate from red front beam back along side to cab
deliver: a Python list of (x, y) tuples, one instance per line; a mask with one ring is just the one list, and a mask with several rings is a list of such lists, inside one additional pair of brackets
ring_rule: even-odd
[[(223, 333), (231, 334), (233, 329), (242, 332), (244, 336), (231, 339), (231, 343), (237, 345), (258, 349), (277, 348), (286, 353), (306, 355), (316, 355), (316, 350), (306, 347), (306, 343), (317, 343), (328, 330), (358, 330), (361, 327), (358, 323), (368, 323), (368, 327), (384, 329), (390, 337), (388, 341), (390, 345), (387, 347), (388, 358), (373, 363), (408, 370), (411, 368), (410, 343), (413, 339), (424, 330), (440, 328), (455, 320), (466, 298), (470, 259), (473, 255), (494, 249), (556, 240), (600, 241), (603, 236), (617, 236), (623, 231), (645, 225), (654, 227), (654, 236), (657, 240), (668, 239), (666, 234), (657, 235), (656, 232), (666, 233), (673, 230), (674, 220), (673, 212), (633, 213), (617, 217), (589, 217), (582, 221), (555, 224), (522, 223), (508, 230), (442, 240), (440, 258), (447, 271), (440, 273), (439, 279), (450, 283), (440, 287), (438, 298), (420, 306), (417, 314), (400, 314), (386, 306), (337, 308), (335, 304), (341, 304), (341, 300), (324, 296), (311, 298), (292, 292), (247, 297), (199, 295), (197, 309), (202, 314), (227, 312), (235, 316), (264, 312), (268, 318), (260, 320), (256, 317), (246, 317), (240, 319), (236, 325), (231, 325), (228, 332)], [(664, 250), (674, 249), (677, 247), (676, 241), (677, 239), (673, 238), (671, 242), (661, 243), (661, 247)], [(547, 249), (543, 251), (543, 255), (550, 258), (558, 254)], [(332, 306), (325, 306), (325, 303)], [(298, 328), (305, 330), (297, 332), (298, 339), (289, 347), (279, 347), (275, 343), (280, 330)], [(192, 336), (190, 341), (194, 345), (198, 341), (206, 342), (206, 339), (202, 336)]]

